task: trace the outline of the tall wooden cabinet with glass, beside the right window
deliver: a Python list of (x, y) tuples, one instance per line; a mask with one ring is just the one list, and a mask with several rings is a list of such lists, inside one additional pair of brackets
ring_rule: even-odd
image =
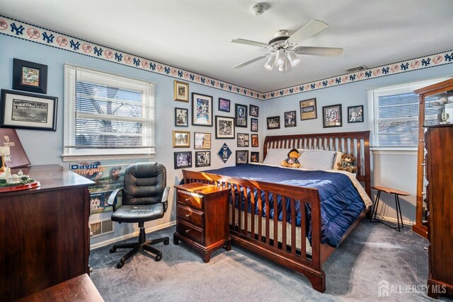
[[(445, 103), (440, 100), (448, 99), (453, 96), (453, 79), (436, 83), (425, 88), (414, 91), (419, 98), (418, 112), (418, 167), (417, 167), (417, 202), (415, 209), (415, 223), (412, 230), (415, 233), (427, 238), (428, 237), (428, 205), (425, 201), (427, 197), (426, 178), (425, 178), (425, 127), (423, 125), (439, 124), (442, 118), (442, 110), (445, 110)], [(450, 101), (449, 101), (450, 102)], [(444, 104), (442, 104), (444, 103)], [(448, 105), (452, 106), (452, 105)], [(428, 110), (429, 112), (428, 115)], [(438, 112), (435, 113), (435, 110)], [(434, 111), (434, 112), (433, 112)], [(437, 115), (437, 116), (436, 116)], [(435, 120), (428, 120), (428, 116), (434, 116)], [(450, 116), (450, 120), (453, 115)]]

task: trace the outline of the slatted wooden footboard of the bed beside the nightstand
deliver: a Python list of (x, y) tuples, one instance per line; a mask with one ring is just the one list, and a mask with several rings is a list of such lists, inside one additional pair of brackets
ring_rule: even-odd
[[(203, 182), (229, 187), (231, 200), (239, 201), (239, 207), (230, 207), (231, 240), (243, 248), (304, 274), (317, 291), (326, 290), (326, 274), (322, 270), (323, 244), (318, 190), (190, 170), (183, 170), (183, 177), (185, 183)], [(282, 207), (281, 221), (278, 221), (277, 215), (271, 217), (270, 214), (277, 213), (279, 198), (282, 204), (285, 204), (283, 201), (287, 204), (287, 207)], [(309, 221), (306, 219), (306, 209), (311, 211)], [(300, 231), (297, 231), (299, 226), (295, 223), (297, 216), (301, 219)], [(287, 223), (289, 221), (291, 223)], [(306, 253), (306, 233), (309, 230), (311, 255)]]

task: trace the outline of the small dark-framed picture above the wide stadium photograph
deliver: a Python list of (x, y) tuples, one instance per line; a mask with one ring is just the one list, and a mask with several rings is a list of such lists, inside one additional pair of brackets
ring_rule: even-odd
[(47, 65), (14, 59), (13, 89), (47, 93)]

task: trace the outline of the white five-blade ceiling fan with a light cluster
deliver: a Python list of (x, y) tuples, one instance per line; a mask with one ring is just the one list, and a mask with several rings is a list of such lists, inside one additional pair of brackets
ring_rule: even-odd
[(295, 47), (302, 40), (306, 40), (309, 37), (316, 35), (322, 30), (325, 30), (327, 27), (328, 25), (323, 21), (311, 20), (309, 23), (306, 23), (304, 27), (297, 30), (297, 32), (293, 35), (289, 35), (287, 30), (278, 30), (277, 33), (274, 34), (274, 38), (270, 40), (268, 44), (245, 39), (231, 40), (231, 42), (234, 43), (263, 47), (270, 51), (270, 54), (263, 54), (259, 57), (238, 64), (233, 68), (241, 68), (253, 62), (259, 61), (260, 59), (268, 58), (268, 62), (264, 65), (266, 69), (272, 70), (275, 64), (278, 66), (279, 71), (289, 71), (291, 66), (295, 66), (300, 61), (296, 54), (338, 57), (343, 52), (343, 48), (309, 46)]

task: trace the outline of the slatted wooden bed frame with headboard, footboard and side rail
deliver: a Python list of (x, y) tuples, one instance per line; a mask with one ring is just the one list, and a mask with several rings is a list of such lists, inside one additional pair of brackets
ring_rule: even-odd
[[(370, 164), (369, 164), (369, 131), (365, 132), (338, 132), (324, 134), (297, 134), (285, 136), (266, 137), (263, 146), (264, 158), (268, 149), (285, 148), (285, 149), (323, 149), (331, 151), (341, 151), (350, 153), (357, 159), (357, 180), (364, 182), (365, 191), (370, 196)], [(253, 194), (246, 202), (251, 204), (251, 213), (230, 207), (230, 225), (229, 233), (233, 243), (240, 245), (243, 248), (267, 257), (274, 262), (279, 263), (289, 269), (294, 269), (297, 272), (304, 274), (311, 286), (317, 291), (326, 290), (326, 274), (323, 272), (322, 265), (327, 260), (328, 256), (335, 250), (326, 243), (321, 243), (321, 205), (319, 201), (319, 193), (317, 189), (295, 187), (292, 185), (276, 185), (270, 182), (260, 182), (257, 180), (246, 180), (241, 178), (230, 178), (223, 175), (215, 175), (203, 173), (202, 171), (183, 170), (185, 183), (189, 182), (204, 182), (214, 185), (230, 185), (233, 200), (236, 195), (243, 197), (243, 192), (246, 190), (258, 190), (264, 192), (257, 194), (258, 200), (254, 200)], [(263, 216), (262, 211), (255, 214), (255, 204), (258, 209), (261, 209), (265, 204), (266, 209), (273, 208), (277, 211), (277, 203), (270, 204), (269, 194), (272, 193), (289, 198), (290, 213), (292, 221), (296, 217), (296, 203), (303, 201), (309, 204), (311, 208), (311, 255), (306, 254), (306, 226), (305, 226), (305, 207), (299, 207), (301, 216), (300, 238), (296, 238), (295, 223), (288, 226), (290, 234), (287, 234), (287, 209), (282, 208), (283, 219), (282, 223), (277, 221), (277, 215), (270, 219), (269, 211), (266, 211)], [(276, 200), (276, 198), (273, 198)], [(368, 209), (364, 209), (357, 220), (352, 223), (350, 228), (345, 232), (341, 242), (348, 236), (357, 223), (360, 222)], [(252, 216), (251, 219), (249, 216)], [(258, 220), (256, 220), (258, 218)], [(265, 221), (264, 223), (256, 223), (256, 221)], [(273, 225), (273, 234), (280, 232), (280, 240), (273, 240), (270, 233), (270, 225)], [(290, 240), (287, 240), (287, 235), (290, 235)], [(275, 238), (275, 237), (274, 237)], [(296, 241), (299, 240), (300, 248), (296, 248)]]

